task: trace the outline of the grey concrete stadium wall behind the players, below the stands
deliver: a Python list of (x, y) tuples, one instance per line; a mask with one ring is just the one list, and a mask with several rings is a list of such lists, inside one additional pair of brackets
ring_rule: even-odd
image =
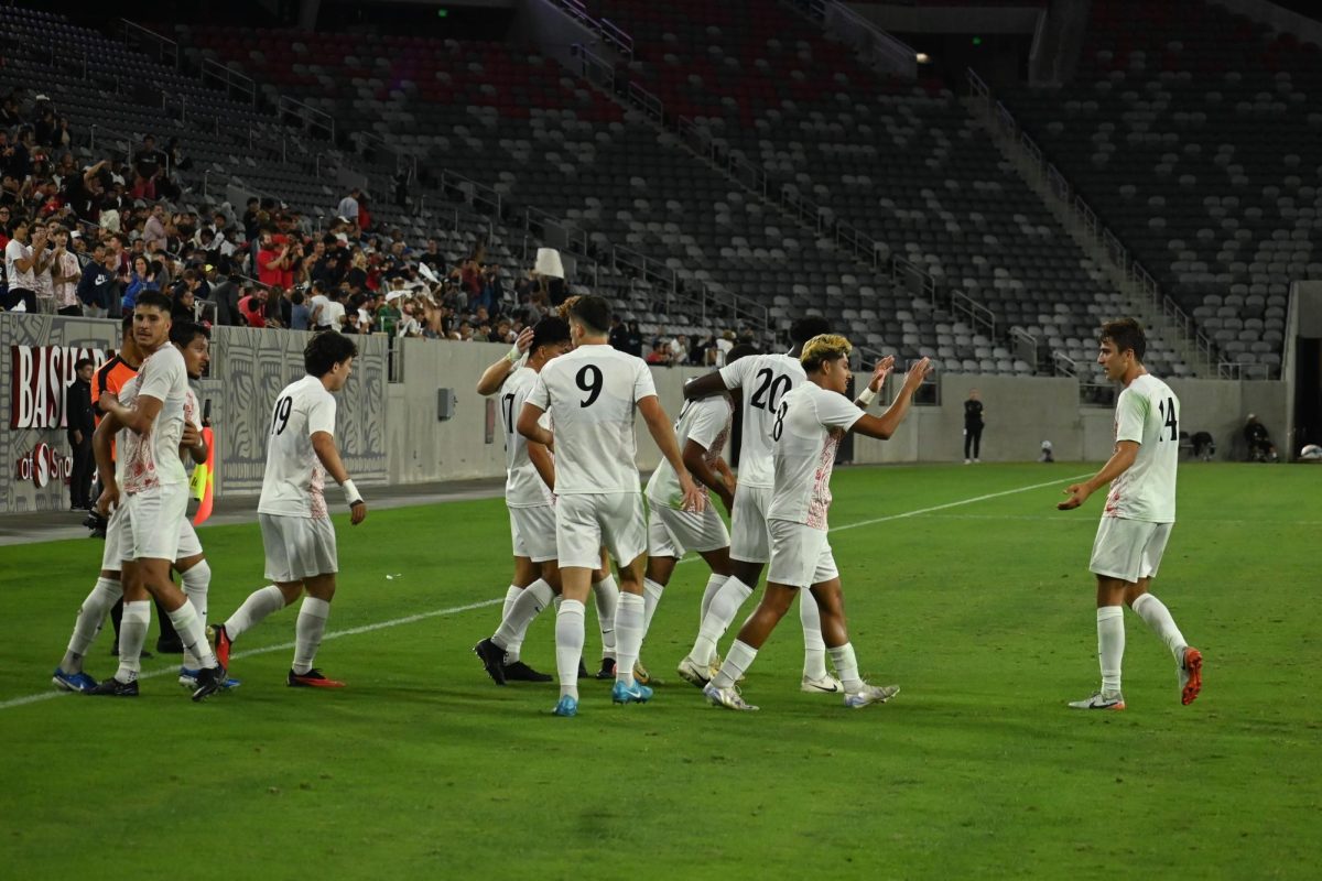
[[(254, 494), (262, 486), (266, 425), (276, 392), (303, 372), (307, 334), (284, 330), (218, 328), (212, 343), (212, 378), (197, 384), (212, 400), (218, 442), (218, 495)], [(481, 371), (508, 349), (493, 343), (451, 345), (430, 339), (395, 341), (402, 367), (389, 382), (390, 341), (360, 337), (360, 358), (338, 396), (341, 453), (361, 485), (419, 483), (498, 477), (504, 473), (504, 437), (494, 400), (473, 390)], [(38, 487), (32, 453), (38, 445), (67, 453), (63, 428), (12, 429), (16, 400), (13, 346), (70, 346), (108, 351), (118, 343), (111, 321), (0, 314), (0, 512), (59, 510), (67, 505), (62, 479)], [(71, 371), (71, 366), (70, 366)], [(656, 369), (657, 394), (673, 419), (683, 382), (699, 369)], [(900, 378), (891, 378), (899, 383)], [(986, 407), (984, 461), (1032, 461), (1050, 440), (1062, 461), (1100, 461), (1112, 449), (1112, 409), (1080, 407), (1075, 378), (1015, 378), (948, 374), (939, 376), (940, 405), (915, 407), (890, 441), (855, 439), (854, 461), (949, 462), (964, 456), (964, 400), (972, 387)], [(1208, 431), (1218, 457), (1241, 454), (1244, 416), (1257, 413), (1273, 432), (1285, 431), (1286, 383), (1171, 380), (1183, 407), (1183, 431)], [(455, 392), (453, 417), (438, 420), (438, 390)], [(639, 466), (656, 468), (660, 453), (641, 419), (635, 425)], [(25, 465), (26, 462), (26, 465)]]

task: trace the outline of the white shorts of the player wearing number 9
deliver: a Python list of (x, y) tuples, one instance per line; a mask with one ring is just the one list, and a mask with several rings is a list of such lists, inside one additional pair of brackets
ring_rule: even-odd
[(642, 493), (592, 493), (555, 499), (555, 552), (559, 565), (595, 569), (602, 547), (620, 565), (648, 549)]

